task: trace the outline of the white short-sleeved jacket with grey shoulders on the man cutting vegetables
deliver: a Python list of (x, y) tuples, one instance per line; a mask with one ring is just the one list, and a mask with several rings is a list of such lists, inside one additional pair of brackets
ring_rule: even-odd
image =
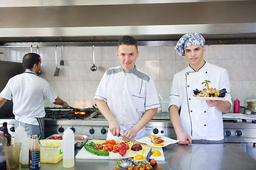
[(103, 100), (119, 125), (133, 127), (145, 111), (159, 108), (153, 79), (136, 67), (125, 73), (121, 66), (107, 70), (95, 98)]

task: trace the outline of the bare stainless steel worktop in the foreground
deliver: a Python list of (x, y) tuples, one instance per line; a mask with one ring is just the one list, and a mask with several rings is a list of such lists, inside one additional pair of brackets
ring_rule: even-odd
[[(256, 161), (242, 152), (239, 145), (169, 145), (164, 147), (164, 162), (158, 162), (163, 170), (200, 170), (200, 169), (255, 169)], [(75, 159), (75, 166), (70, 170), (111, 170), (117, 160)], [(24, 168), (19, 168), (19, 170)], [(58, 164), (41, 164), (44, 169), (64, 169)]]

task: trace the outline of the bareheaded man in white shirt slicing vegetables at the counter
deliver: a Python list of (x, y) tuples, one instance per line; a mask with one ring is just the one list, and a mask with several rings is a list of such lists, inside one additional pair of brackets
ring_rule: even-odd
[(145, 136), (145, 125), (160, 107), (154, 81), (140, 71), (137, 40), (124, 36), (117, 42), (117, 58), (121, 64), (105, 72), (95, 93), (97, 107), (109, 122), (107, 140), (128, 140)]

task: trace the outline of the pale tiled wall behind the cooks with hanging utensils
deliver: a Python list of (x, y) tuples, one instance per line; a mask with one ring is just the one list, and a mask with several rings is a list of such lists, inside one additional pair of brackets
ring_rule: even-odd
[[(59, 77), (55, 72), (55, 47), (39, 47), (43, 59), (41, 77), (47, 79), (60, 98), (70, 106), (91, 106), (93, 96), (104, 72), (119, 65), (115, 56), (116, 47), (95, 47), (96, 72), (91, 72), (92, 47), (63, 47), (64, 66), (60, 66), (61, 48), (57, 47)], [(2, 61), (21, 62), (31, 47), (0, 47)], [(36, 52), (36, 48), (33, 49)], [(176, 72), (187, 67), (185, 57), (179, 57), (174, 46), (139, 46), (137, 67), (154, 79), (156, 89), (168, 100), (171, 81)], [(206, 45), (205, 60), (228, 69), (233, 100), (240, 99), (241, 106), (247, 106), (247, 99), (256, 98), (256, 45)], [(80, 105), (79, 105), (80, 104)], [(53, 107), (46, 101), (46, 106)]]

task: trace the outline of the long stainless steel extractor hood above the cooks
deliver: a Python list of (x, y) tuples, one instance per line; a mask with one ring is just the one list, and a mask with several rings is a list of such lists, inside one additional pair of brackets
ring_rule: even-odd
[(256, 1), (9, 0), (0, 2), (0, 45), (10, 42), (256, 40)]

